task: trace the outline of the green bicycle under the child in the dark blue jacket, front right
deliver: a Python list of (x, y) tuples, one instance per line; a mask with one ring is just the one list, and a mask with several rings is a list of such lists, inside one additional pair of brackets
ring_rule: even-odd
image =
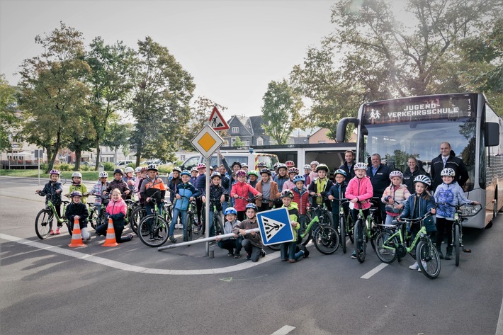
[[(424, 225), (424, 220), (429, 217), (431, 212), (427, 212), (425, 215), (419, 218), (407, 219), (400, 218), (400, 221), (392, 221), (393, 225), (382, 225), (385, 227), (383, 231), (376, 237), (376, 248), (378, 258), (384, 263), (392, 263), (396, 259), (402, 259), (407, 254), (412, 254), (414, 247), (416, 248), (417, 264), (424, 273), (424, 276), (434, 279), (440, 274), (440, 257), (436, 248), (431, 242), (429, 235), (426, 232), (426, 226)], [(402, 229), (400, 226), (409, 223), (410, 225), (419, 222), (421, 224), (421, 229), (416, 234), (416, 237), (407, 246), (405, 243), (404, 234), (402, 234)], [(424, 265), (426, 264), (426, 266)]]

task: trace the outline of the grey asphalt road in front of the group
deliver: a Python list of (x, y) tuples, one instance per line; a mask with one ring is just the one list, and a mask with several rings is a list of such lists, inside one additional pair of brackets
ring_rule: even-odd
[(497, 331), (502, 217), (490, 229), (465, 229), (473, 252), (461, 254), (458, 267), (441, 261), (439, 278), (430, 280), (409, 270), (410, 256), (383, 267), (370, 244), (362, 264), (340, 248), (325, 256), (312, 245), (310, 257), (293, 264), (269, 249), (251, 263), (218, 248), (209, 259), (205, 244), (157, 251), (135, 238), (103, 248), (103, 237), (92, 233), (87, 246), (71, 249), (66, 229), (36, 237), (35, 215), (44, 206), (36, 179), (0, 183), (0, 334)]

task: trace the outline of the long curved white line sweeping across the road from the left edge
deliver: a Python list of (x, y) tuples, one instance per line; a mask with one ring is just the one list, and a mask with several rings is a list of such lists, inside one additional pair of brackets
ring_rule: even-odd
[[(228, 273), (245, 270), (247, 268), (252, 268), (266, 261), (272, 261), (277, 259), (280, 255), (278, 252), (266, 255), (261, 258), (260, 261), (254, 263), (252, 261), (247, 261), (239, 263), (234, 266), (227, 266), (226, 268), (205, 268), (200, 270), (167, 270), (162, 268), (145, 268), (143, 266), (134, 266), (128, 263), (122, 263), (118, 261), (112, 261), (111, 259), (103, 259), (103, 257), (92, 256), (89, 254), (84, 254), (79, 251), (74, 251), (72, 249), (61, 248), (60, 246), (49, 246), (40, 242), (30, 241), (28, 239), (21, 239), (20, 237), (15, 237), (6, 234), (0, 234), (0, 239), (5, 239), (7, 241), (16, 242), (19, 244), (24, 244), (26, 246), (33, 246), (38, 249), (43, 249), (46, 251), (52, 251), (56, 254), (62, 254), (65, 256), (74, 257), (75, 259), (81, 259), (84, 261), (90, 261), (93, 263), (98, 263), (103, 266), (109, 266), (111, 268), (118, 268), (119, 270), (137, 272), (137, 273), (149, 273), (156, 275), (213, 275), (216, 273)], [(286, 334), (286, 333), (285, 333)]]

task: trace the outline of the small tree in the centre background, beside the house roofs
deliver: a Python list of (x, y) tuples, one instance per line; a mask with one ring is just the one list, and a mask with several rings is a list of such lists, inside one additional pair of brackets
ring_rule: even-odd
[(301, 127), (300, 110), (304, 105), (299, 93), (285, 79), (271, 81), (262, 100), (262, 127), (279, 145), (286, 144), (293, 130)]

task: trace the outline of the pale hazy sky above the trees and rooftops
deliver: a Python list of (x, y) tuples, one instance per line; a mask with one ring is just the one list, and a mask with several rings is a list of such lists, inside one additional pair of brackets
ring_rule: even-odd
[[(60, 21), (106, 44), (137, 50), (150, 36), (169, 49), (204, 96), (228, 109), (223, 117), (261, 115), (270, 81), (288, 78), (308, 47), (334, 30), (334, 0), (0, 0), (0, 73), (16, 85), (23, 59), (40, 55), (35, 36)], [(209, 113), (210, 111), (208, 111)]]

